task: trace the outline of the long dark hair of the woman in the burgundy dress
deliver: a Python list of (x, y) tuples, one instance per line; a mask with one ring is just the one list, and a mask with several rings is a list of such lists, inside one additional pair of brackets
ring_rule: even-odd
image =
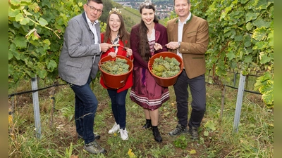
[[(156, 10), (156, 8), (154, 7), (154, 4), (152, 4), (151, 2), (150, 3), (143, 2), (140, 5), (140, 9), (139, 9), (140, 14), (142, 14), (143, 8), (152, 9), (153, 11)], [(154, 15), (154, 22), (159, 23), (159, 20), (156, 15)], [(138, 34), (139, 39), (140, 39), (138, 51), (140, 52), (142, 59), (145, 61), (149, 61), (149, 58), (151, 57), (151, 52), (149, 51), (149, 43), (148, 43), (148, 37), (147, 37), (148, 30), (149, 29), (145, 25), (145, 22), (141, 19), (140, 27), (139, 27), (139, 34)]]

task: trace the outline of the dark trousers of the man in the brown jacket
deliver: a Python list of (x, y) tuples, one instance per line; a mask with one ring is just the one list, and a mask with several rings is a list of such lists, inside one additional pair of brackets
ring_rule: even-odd
[[(188, 86), (192, 96), (192, 112), (188, 124)], [(189, 79), (185, 70), (179, 75), (176, 84), (173, 85), (177, 102), (178, 124), (181, 126), (199, 127), (206, 111), (206, 84), (202, 74), (199, 77)]]

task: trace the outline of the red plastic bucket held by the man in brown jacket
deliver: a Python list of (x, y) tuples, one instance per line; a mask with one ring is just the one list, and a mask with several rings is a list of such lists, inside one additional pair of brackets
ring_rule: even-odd
[[(166, 57), (176, 58), (176, 60), (178, 60), (178, 62), (180, 62), (180, 65), (179, 65), (180, 72), (178, 72), (178, 74), (176, 74), (174, 77), (168, 77), (168, 78), (158, 77), (157, 75), (155, 75), (152, 72), (152, 65), (154, 63), (154, 59), (159, 58), (161, 56), (163, 58), (166, 58)], [(176, 53), (171, 53), (171, 52), (165, 51), (165, 52), (161, 52), (161, 53), (157, 53), (157, 54), (153, 55), (152, 58), (149, 59), (148, 67), (149, 67), (149, 72), (153, 75), (154, 80), (157, 82), (157, 84), (159, 84), (159, 86), (172, 86), (173, 84), (176, 83), (179, 74), (183, 71), (183, 60)]]

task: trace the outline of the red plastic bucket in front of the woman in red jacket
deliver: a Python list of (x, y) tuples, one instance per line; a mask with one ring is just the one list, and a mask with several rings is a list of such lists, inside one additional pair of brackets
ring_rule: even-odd
[[(103, 62), (106, 62), (109, 60), (116, 60), (116, 58), (127, 60), (127, 64), (129, 65), (128, 72), (126, 72), (125, 74), (109, 74), (105, 72), (104, 70), (102, 70), (101, 64)], [(133, 71), (133, 62), (132, 61), (130, 61), (128, 58), (121, 56), (121, 55), (116, 55), (116, 58), (112, 58), (111, 55), (109, 55), (109, 56), (102, 58), (99, 61), (99, 70), (101, 70), (102, 72), (101, 75), (102, 75), (104, 84), (108, 86), (109, 88), (115, 88), (115, 89), (123, 87), (125, 85), (125, 81), (128, 79), (128, 75), (130, 74), (130, 72)]]

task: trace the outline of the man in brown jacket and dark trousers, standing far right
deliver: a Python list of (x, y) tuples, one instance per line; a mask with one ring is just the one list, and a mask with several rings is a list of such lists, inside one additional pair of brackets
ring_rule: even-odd
[[(178, 125), (169, 135), (190, 133), (192, 139), (197, 139), (198, 128), (206, 110), (204, 53), (209, 44), (209, 25), (207, 20), (190, 13), (190, 0), (174, 0), (174, 8), (178, 18), (168, 21), (166, 31), (169, 43), (166, 46), (183, 59), (184, 70), (173, 85), (176, 94)], [(192, 96), (192, 112), (189, 121), (188, 86)]]

